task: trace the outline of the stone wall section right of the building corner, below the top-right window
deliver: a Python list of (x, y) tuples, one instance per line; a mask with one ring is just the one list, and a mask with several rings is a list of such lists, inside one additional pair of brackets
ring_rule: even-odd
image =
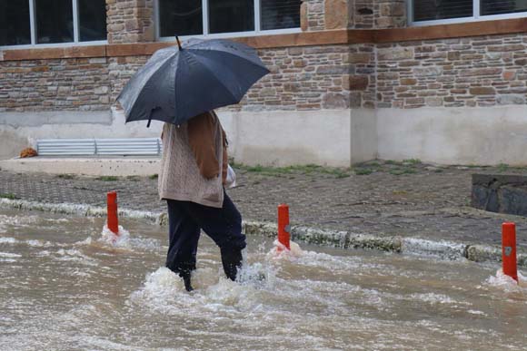
[(527, 35), (378, 45), (377, 107), (525, 104)]

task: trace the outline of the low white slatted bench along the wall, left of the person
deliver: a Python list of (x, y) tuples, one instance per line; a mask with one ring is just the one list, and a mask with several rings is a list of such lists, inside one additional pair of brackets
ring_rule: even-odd
[(159, 156), (161, 139), (40, 139), (39, 156)]

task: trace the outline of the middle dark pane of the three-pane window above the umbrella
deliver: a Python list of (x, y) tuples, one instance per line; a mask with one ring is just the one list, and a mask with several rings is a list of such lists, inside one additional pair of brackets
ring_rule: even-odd
[(253, 0), (209, 0), (210, 33), (254, 31)]

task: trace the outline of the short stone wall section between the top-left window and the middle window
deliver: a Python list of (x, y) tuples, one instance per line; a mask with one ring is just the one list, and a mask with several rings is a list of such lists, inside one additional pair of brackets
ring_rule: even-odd
[(108, 43), (153, 42), (154, 0), (106, 0)]

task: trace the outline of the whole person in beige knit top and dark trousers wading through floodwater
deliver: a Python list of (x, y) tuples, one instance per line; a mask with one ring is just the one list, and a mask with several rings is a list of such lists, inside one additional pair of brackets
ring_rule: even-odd
[(201, 230), (220, 248), (227, 278), (236, 279), (246, 247), (242, 216), (224, 190), (228, 156), (224, 129), (214, 111), (180, 125), (164, 123), (159, 197), (168, 206), (166, 267), (192, 291)]

